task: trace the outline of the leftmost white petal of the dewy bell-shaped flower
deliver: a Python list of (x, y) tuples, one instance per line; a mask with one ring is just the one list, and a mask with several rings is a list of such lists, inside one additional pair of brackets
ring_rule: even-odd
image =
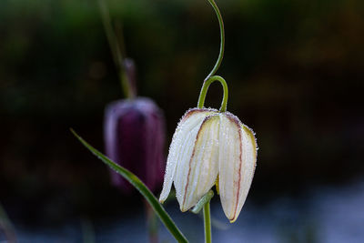
[[(183, 187), (181, 186), (181, 183), (182, 180), (184, 180), (182, 175), (186, 174), (187, 177), (186, 169), (184, 169), (183, 166), (187, 164), (187, 157), (191, 157), (193, 143), (196, 140), (201, 123), (206, 116), (211, 114), (211, 112), (212, 111), (207, 109), (190, 109), (181, 118), (169, 147), (166, 174), (163, 189), (159, 197), (160, 202), (164, 202), (167, 199), (174, 180), (177, 191), (177, 200), (178, 202), (182, 201), (181, 193)], [(178, 171), (179, 176), (176, 175), (176, 170)]]

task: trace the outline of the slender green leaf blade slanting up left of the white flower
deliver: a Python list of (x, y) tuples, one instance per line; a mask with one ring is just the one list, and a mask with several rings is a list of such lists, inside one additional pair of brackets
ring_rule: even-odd
[(154, 209), (157, 213), (157, 216), (169, 230), (169, 232), (173, 235), (174, 238), (177, 239), (178, 242), (188, 242), (187, 238), (182, 234), (182, 232), (177, 228), (175, 222), (173, 222), (172, 218), (169, 217), (167, 211), (163, 206), (159, 203), (157, 197), (153, 195), (153, 193), (147, 188), (147, 186), (134, 175), (132, 172), (127, 170), (125, 167), (120, 167), (115, 162), (111, 161), (101, 152), (96, 150), (95, 147), (90, 146), (82, 137), (79, 137), (74, 130), (71, 129), (71, 132), (75, 135), (75, 137), (96, 157), (101, 159), (108, 167), (112, 168), (119, 175), (126, 178), (136, 189), (147, 199), (149, 205)]

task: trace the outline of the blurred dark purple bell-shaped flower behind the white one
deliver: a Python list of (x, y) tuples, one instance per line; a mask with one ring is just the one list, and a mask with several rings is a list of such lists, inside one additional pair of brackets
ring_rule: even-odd
[[(136, 174), (149, 189), (161, 186), (164, 176), (165, 119), (149, 98), (117, 100), (106, 106), (106, 155)], [(133, 187), (111, 171), (112, 183), (122, 191)]]

